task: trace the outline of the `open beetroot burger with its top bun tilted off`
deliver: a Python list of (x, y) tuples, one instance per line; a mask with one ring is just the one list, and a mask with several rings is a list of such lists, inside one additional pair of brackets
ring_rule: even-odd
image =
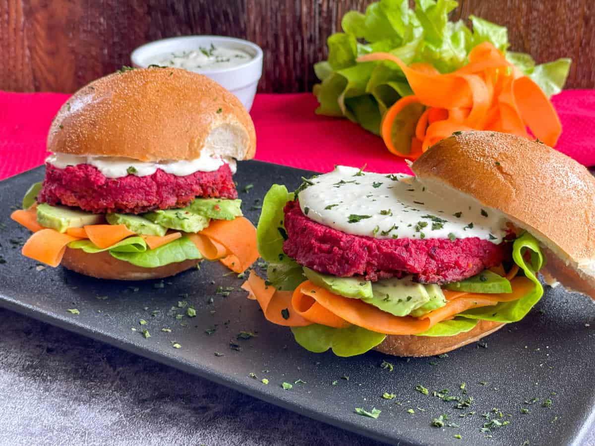
[(258, 224), (268, 279), (243, 285), (265, 318), (315, 352), (430, 356), (522, 319), (543, 294), (538, 271), (595, 296), (595, 180), (577, 162), (470, 132), (412, 170), (339, 166), (295, 193), (271, 188)]

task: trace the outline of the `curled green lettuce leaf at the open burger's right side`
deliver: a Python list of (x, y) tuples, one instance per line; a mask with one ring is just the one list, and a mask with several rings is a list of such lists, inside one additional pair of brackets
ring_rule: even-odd
[[(526, 252), (530, 253), (531, 260), (525, 260)], [(522, 269), (525, 276), (535, 285), (533, 291), (519, 300), (511, 302), (500, 302), (493, 306), (474, 308), (467, 310), (458, 316), (471, 319), (483, 319), (484, 321), (516, 322), (524, 318), (529, 310), (543, 296), (543, 287), (537, 279), (537, 271), (544, 264), (544, 256), (539, 249), (539, 243), (533, 235), (524, 233), (516, 238), (512, 246), (512, 259)]]

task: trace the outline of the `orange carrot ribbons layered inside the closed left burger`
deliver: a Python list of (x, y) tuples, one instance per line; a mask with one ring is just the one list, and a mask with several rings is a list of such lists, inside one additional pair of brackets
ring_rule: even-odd
[[(14, 211), (11, 218), (33, 232), (23, 246), (23, 255), (54, 267), (60, 265), (71, 241), (89, 239), (95, 246), (105, 249), (136, 235), (126, 225), (108, 224), (68, 228), (65, 234), (60, 233), (37, 223), (36, 206), (26, 211)], [(256, 228), (244, 217), (212, 220), (200, 233), (186, 235), (205, 259), (220, 260), (231, 271), (243, 272), (258, 259)], [(170, 231), (163, 236), (141, 235), (149, 249), (156, 249), (181, 236), (179, 231)]]

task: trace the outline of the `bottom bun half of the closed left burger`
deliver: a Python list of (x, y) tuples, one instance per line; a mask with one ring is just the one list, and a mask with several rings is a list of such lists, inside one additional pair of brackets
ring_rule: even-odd
[(198, 265), (201, 260), (184, 260), (157, 268), (142, 268), (112, 257), (107, 251), (88, 254), (82, 249), (66, 248), (62, 262), (64, 268), (98, 279), (145, 280), (170, 277)]

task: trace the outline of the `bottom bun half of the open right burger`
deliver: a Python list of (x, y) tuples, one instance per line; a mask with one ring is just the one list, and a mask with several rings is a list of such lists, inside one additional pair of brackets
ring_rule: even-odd
[(454, 336), (388, 335), (374, 350), (394, 356), (434, 356), (478, 341), (504, 325), (500, 322), (479, 321), (468, 332)]

